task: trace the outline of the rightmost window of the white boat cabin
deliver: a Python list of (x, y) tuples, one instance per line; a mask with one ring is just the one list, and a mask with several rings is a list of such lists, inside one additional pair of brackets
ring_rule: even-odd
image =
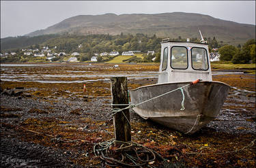
[(192, 68), (195, 70), (206, 71), (209, 68), (208, 65), (208, 55), (205, 48), (192, 48)]

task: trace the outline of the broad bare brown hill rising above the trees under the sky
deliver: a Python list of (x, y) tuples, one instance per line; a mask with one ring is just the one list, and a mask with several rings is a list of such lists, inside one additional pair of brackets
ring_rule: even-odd
[(227, 44), (243, 44), (247, 39), (255, 38), (255, 25), (253, 24), (240, 24), (208, 15), (184, 12), (79, 15), (27, 35), (32, 37), (55, 33), (79, 35), (144, 33), (155, 34), (157, 37), (199, 38), (199, 29), (203, 37), (216, 37)]

